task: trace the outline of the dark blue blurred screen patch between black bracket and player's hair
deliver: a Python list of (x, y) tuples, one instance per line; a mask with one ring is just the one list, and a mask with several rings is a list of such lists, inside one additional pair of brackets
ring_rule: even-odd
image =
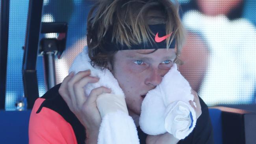
[[(43, 13), (50, 13), (55, 22), (68, 22), (67, 48), (86, 34), (86, 21), (91, 0), (50, 0)], [(65, 7), (65, 8), (64, 8)]]

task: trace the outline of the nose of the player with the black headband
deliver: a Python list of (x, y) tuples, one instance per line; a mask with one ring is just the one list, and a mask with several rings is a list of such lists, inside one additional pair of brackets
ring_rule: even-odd
[(145, 79), (145, 84), (150, 86), (157, 86), (161, 83), (164, 74), (161, 74), (159, 68), (150, 68), (148, 70), (148, 77)]

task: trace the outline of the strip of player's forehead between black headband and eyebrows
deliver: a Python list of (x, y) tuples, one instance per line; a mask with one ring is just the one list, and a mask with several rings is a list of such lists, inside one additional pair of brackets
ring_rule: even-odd
[(158, 50), (147, 49), (147, 50), (120, 50), (117, 52), (117, 57), (171, 57), (175, 58), (176, 53), (174, 49), (161, 48)]

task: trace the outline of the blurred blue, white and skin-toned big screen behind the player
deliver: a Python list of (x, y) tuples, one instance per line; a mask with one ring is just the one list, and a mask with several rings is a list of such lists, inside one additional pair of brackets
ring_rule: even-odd
[[(256, 111), (256, 1), (178, 0), (187, 29), (180, 71), (208, 106)], [(7, 111), (26, 98), (22, 83), (29, 0), (10, 0), (7, 55)], [(56, 83), (67, 76), (86, 46), (86, 21), (93, 0), (44, 0), (43, 22), (67, 22), (66, 50), (56, 58)], [(43, 37), (56, 38), (57, 33)], [(43, 57), (37, 58), (39, 96), (46, 90)]]

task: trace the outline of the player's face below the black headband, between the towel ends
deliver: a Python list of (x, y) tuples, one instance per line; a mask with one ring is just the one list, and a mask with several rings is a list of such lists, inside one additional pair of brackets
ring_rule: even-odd
[(173, 66), (174, 49), (121, 50), (114, 56), (112, 73), (126, 96), (128, 110), (140, 115), (141, 103)]

